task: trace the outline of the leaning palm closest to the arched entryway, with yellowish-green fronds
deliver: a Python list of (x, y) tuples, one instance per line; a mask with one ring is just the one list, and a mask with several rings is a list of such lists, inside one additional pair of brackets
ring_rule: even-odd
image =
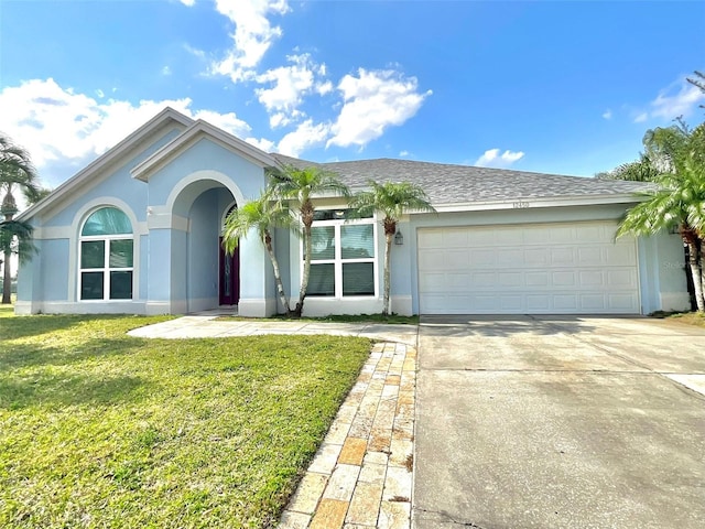
[(276, 293), (288, 315), (291, 314), (291, 307), (282, 284), (279, 261), (272, 247), (272, 229), (295, 227), (296, 220), (289, 208), (282, 205), (281, 202), (273, 201), (271, 193), (264, 192), (259, 198), (234, 209), (225, 222), (225, 231), (223, 234), (223, 246), (228, 253), (232, 253), (238, 247), (241, 237), (247, 237), (252, 229), (257, 231), (272, 261)]

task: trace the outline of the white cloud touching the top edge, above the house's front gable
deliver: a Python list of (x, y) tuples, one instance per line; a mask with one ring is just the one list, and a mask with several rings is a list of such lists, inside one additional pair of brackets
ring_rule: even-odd
[(267, 17), (289, 12), (288, 0), (216, 0), (216, 10), (235, 24), (235, 31), (232, 48), (212, 64), (212, 73), (227, 75), (232, 83), (251, 79), (267, 51), (282, 35), (281, 28)]

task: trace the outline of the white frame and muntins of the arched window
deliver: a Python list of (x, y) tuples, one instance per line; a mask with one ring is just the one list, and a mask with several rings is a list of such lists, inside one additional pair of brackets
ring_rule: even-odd
[[(86, 226), (86, 223), (88, 222), (88, 219), (97, 212), (99, 212), (100, 209), (105, 209), (105, 208), (112, 208), (112, 209), (117, 209), (120, 213), (122, 213), (128, 222), (130, 223), (130, 228), (132, 229), (132, 233), (130, 234), (110, 234), (110, 235), (83, 235), (84, 228)], [(110, 248), (112, 246), (112, 242), (115, 241), (119, 241), (119, 240), (129, 240), (132, 242), (132, 266), (131, 267), (111, 267), (110, 266)], [(120, 302), (129, 302), (134, 300), (134, 227), (132, 226), (132, 222), (130, 220), (130, 217), (119, 207), (116, 207), (113, 205), (102, 205), (100, 207), (97, 207), (95, 209), (93, 209), (88, 215), (86, 215), (86, 218), (84, 219), (84, 222), (80, 224), (79, 227), (79, 231), (78, 231), (78, 266), (77, 268), (77, 284), (76, 284), (76, 300), (79, 303), (120, 303)], [(102, 267), (100, 268), (84, 268), (84, 262), (83, 262), (83, 255), (84, 255), (84, 242), (89, 242), (89, 241), (101, 241), (104, 242), (104, 256), (102, 256)], [(102, 273), (102, 298), (100, 299), (84, 299), (83, 298), (83, 285), (84, 285), (84, 281), (83, 281), (83, 277), (84, 273), (87, 272), (99, 272)], [(131, 280), (130, 280), (130, 296), (129, 298), (110, 298), (110, 287), (112, 284), (111, 282), (111, 278), (110, 278), (110, 273), (111, 272), (131, 272)]]

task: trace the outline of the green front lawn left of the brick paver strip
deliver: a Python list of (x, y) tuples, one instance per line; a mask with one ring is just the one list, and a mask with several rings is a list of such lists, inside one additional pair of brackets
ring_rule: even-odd
[(271, 527), (370, 343), (0, 309), (0, 527)]

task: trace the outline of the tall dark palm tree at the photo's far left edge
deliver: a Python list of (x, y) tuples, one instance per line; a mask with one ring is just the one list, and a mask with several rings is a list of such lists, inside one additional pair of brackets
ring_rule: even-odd
[[(17, 201), (14, 199), (13, 190), (20, 188), (28, 201), (34, 202), (40, 197), (40, 188), (36, 184), (36, 173), (30, 161), (29, 153), (21, 147), (14, 144), (12, 140), (0, 134), (0, 215), (4, 217), (2, 239), (0, 250), (4, 258), (4, 274), (2, 285), (2, 303), (10, 303), (10, 281), (12, 278), (12, 269), (10, 266), (10, 256), (13, 246), (18, 251), (26, 248), (26, 242), (31, 239), (32, 230), (25, 229), (29, 226), (24, 223), (12, 220), (14, 214), (18, 213)], [(12, 236), (9, 234), (15, 230)], [(15, 241), (17, 245), (15, 245)], [(22, 258), (22, 253), (20, 253)]]

